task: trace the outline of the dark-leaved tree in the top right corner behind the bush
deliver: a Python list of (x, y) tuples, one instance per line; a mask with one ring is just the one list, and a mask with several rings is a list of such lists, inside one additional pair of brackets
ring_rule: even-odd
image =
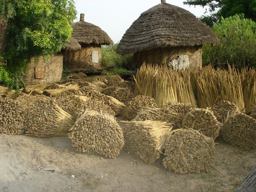
[(200, 19), (208, 25), (220, 21), (221, 17), (227, 18), (235, 14), (243, 14), (244, 18), (256, 22), (256, 0), (186, 0), (186, 5), (205, 7), (209, 16), (202, 16)]

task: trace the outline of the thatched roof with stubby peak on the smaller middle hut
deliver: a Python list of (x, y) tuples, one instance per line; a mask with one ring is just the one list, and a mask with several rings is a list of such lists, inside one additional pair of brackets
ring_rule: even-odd
[(80, 44), (110, 45), (113, 41), (100, 27), (84, 22), (84, 14), (80, 15), (80, 21), (74, 23), (72, 37)]

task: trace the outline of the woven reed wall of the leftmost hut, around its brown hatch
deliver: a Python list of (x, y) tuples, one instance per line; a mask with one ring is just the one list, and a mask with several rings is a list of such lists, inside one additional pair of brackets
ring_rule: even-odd
[[(45, 66), (45, 77), (36, 79), (36, 67)], [(59, 81), (61, 79), (63, 67), (63, 53), (57, 53), (54, 57), (49, 58), (48, 63), (45, 63), (43, 57), (39, 58), (39, 62), (35, 63), (34, 59), (31, 59), (31, 62), (28, 64), (28, 72), (24, 74), (22, 79), (27, 84), (30, 83), (52, 83)]]

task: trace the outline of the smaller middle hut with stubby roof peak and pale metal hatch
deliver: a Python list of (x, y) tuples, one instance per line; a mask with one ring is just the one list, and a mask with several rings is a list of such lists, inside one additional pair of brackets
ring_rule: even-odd
[(101, 45), (113, 44), (108, 34), (100, 27), (84, 22), (84, 14), (80, 21), (74, 23), (72, 37), (81, 45), (81, 50), (65, 51), (63, 63), (72, 72), (94, 71), (101, 68)]

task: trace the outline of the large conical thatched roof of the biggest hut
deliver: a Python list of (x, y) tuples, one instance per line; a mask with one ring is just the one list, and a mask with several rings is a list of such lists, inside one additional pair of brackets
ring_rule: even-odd
[(133, 22), (116, 52), (127, 55), (154, 47), (217, 44), (219, 41), (216, 34), (189, 11), (161, 3)]

